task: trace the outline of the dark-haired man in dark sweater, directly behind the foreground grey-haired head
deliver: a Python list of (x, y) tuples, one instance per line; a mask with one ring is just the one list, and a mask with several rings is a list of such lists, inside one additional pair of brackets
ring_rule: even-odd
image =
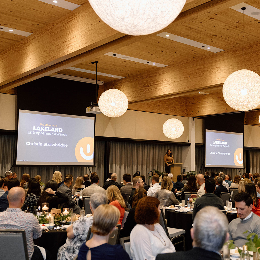
[(205, 194), (195, 200), (192, 219), (195, 218), (198, 211), (206, 206), (214, 206), (217, 207), (219, 210), (225, 210), (223, 200), (217, 197), (216, 194), (213, 194), (213, 192), (216, 190), (216, 185), (215, 181), (212, 178), (206, 180), (204, 190)]

